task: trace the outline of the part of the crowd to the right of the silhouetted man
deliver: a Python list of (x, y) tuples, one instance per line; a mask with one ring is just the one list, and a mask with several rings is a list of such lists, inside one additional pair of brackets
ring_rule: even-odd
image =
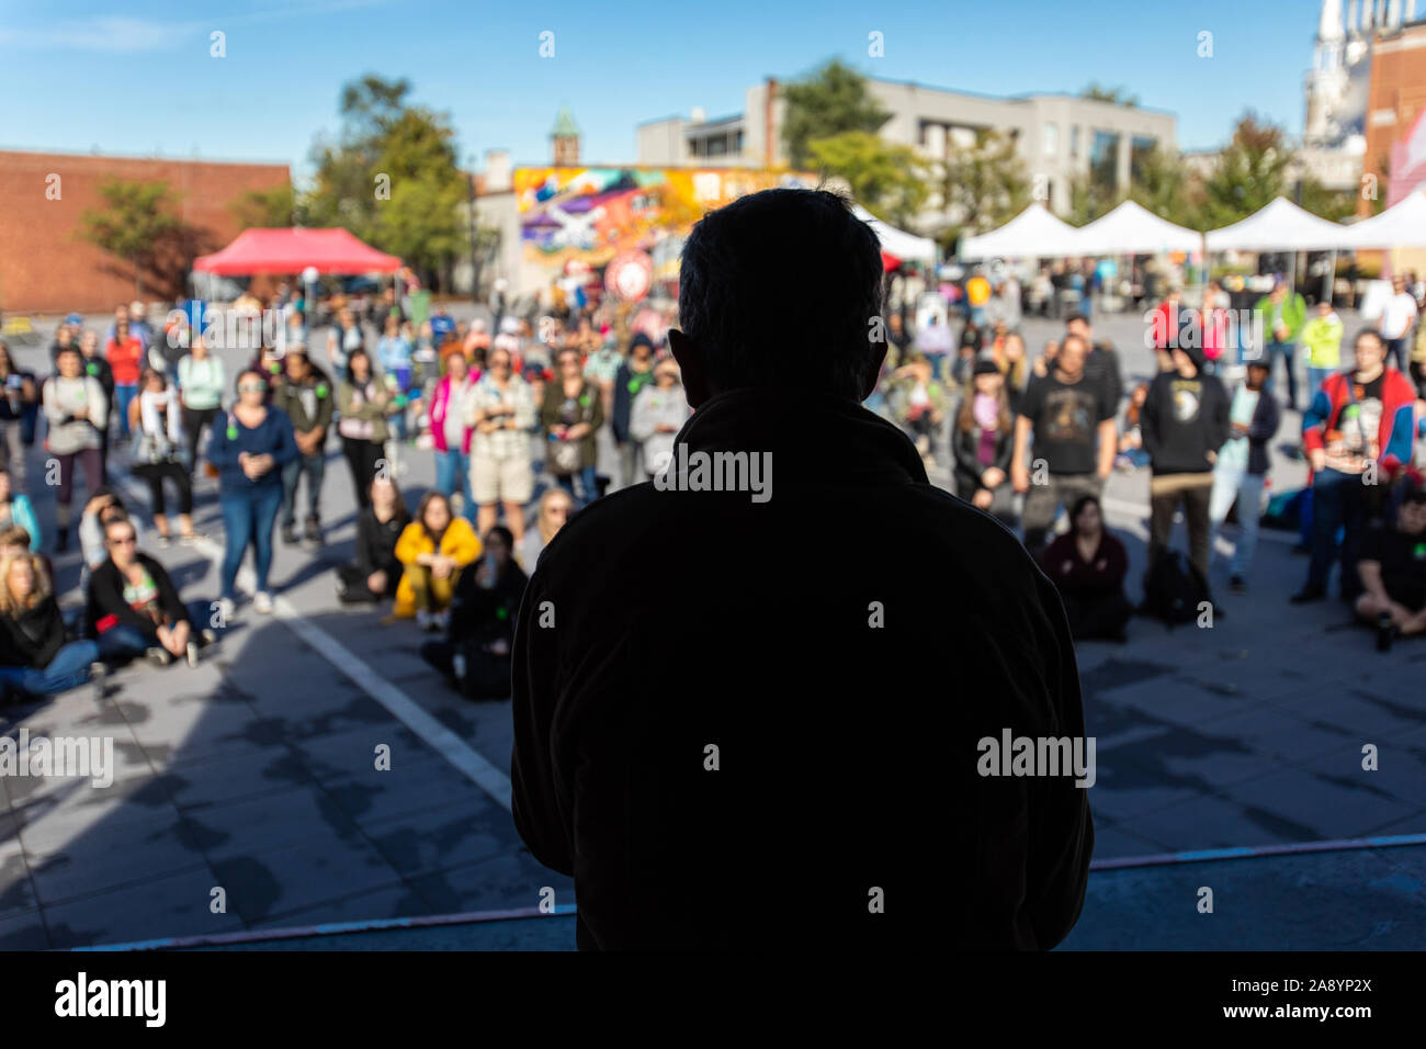
[[(1125, 589), (1128, 558), (1099, 507), (1115, 470), (1148, 472), (1138, 611), (1186, 622), (1206, 601), (1222, 614), (1211, 569), (1229, 517), (1238, 537), (1228, 585), (1248, 588), (1273, 441), (1288, 411), (1301, 415), (1288, 451), (1310, 468), (1308, 485), (1283, 505), (1309, 564), (1292, 601), (1325, 598), (1340, 565), (1342, 599), (1376, 627), (1383, 647), (1422, 632), (1426, 535), (1413, 511), (1402, 510), (1422, 488), (1415, 460), (1426, 432), (1426, 325), (1417, 324), (1426, 285), (1415, 274), (1393, 281), (1366, 318), (1372, 327), (1353, 337), (1346, 367), (1345, 327), (1330, 301), (1309, 311), (1279, 280), (1242, 323), (1215, 281), (1194, 305), (1169, 287), (1147, 315), (1156, 374), (1127, 398), (1117, 350), (1082, 313), (1065, 315), (1062, 337), (1030, 361), (1017, 331), (1020, 295), (1005, 284), (991, 291), (984, 310), (965, 311), (958, 338), (940, 318), (913, 333), (893, 317), (881, 405), (927, 465), (948, 442), (957, 494), (1022, 531), (1060, 587), (1077, 638), (1122, 641), (1137, 611)], [(1002, 300), (1010, 304), (998, 307)], [(1061, 511), (1070, 529), (1055, 538)], [(1169, 542), (1179, 515), (1185, 552)], [(1419, 542), (1383, 569), (1383, 548), (1399, 554), (1407, 542), (1397, 534)]]

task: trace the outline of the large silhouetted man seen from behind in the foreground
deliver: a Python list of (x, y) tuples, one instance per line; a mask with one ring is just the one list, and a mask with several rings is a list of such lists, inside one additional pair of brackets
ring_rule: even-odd
[(1050, 948), (1079, 915), (1085, 792), (998, 752), (1084, 735), (1065, 615), (860, 407), (881, 277), (834, 194), (706, 216), (673, 460), (540, 555), (513, 812), (575, 879), (580, 948)]

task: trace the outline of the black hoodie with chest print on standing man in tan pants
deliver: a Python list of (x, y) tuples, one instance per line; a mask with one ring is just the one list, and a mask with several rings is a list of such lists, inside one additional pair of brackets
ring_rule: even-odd
[(1208, 457), (1228, 440), (1232, 402), (1215, 375), (1199, 371), (1184, 378), (1178, 371), (1161, 371), (1149, 384), (1139, 412), (1139, 434), (1154, 474), (1206, 474)]

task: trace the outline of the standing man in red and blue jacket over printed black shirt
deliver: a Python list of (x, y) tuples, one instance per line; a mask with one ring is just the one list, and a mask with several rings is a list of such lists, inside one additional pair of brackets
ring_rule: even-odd
[[(1386, 367), (1386, 343), (1368, 328), (1352, 347), (1350, 371), (1338, 373), (1312, 395), (1302, 415), (1302, 447), (1312, 464), (1312, 561), (1292, 604), (1320, 601), (1332, 562), (1342, 561), (1342, 599), (1356, 599), (1358, 547), (1368, 518), (1368, 490), (1410, 464), (1416, 445), (1416, 391)], [(1363, 478), (1372, 471), (1372, 478)], [(1338, 551), (1336, 534), (1342, 529)]]

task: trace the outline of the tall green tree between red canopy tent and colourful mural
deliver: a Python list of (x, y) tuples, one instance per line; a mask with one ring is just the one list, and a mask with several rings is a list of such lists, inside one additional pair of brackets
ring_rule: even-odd
[(337, 143), (312, 147), (312, 190), (299, 210), (314, 225), (341, 225), (409, 265), (438, 274), (465, 250), (449, 118), (408, 103), (411, 84), (365, 76), (342, 88)]

